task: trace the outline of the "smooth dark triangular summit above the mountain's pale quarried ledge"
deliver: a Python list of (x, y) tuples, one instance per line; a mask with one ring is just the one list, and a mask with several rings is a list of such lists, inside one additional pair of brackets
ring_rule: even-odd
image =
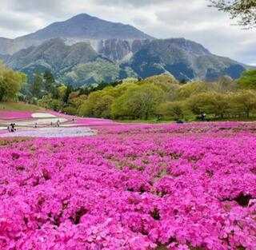
[(89, 14), (78, 14), (64, 22), (54, 22), (42, 30), (18, 39), (46, 40), (50, 38), (152, 39), (134, 26), (105, 21)]

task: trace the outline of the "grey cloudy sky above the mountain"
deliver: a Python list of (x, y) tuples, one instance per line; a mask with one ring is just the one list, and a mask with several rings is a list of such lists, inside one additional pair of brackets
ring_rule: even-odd
[(1, 0), (0, 37), (16, 38), (86, 13), (155, 38), (187, 38), (214, 54), (256, 65), (256, 29), (234, 26), (207, 0)]

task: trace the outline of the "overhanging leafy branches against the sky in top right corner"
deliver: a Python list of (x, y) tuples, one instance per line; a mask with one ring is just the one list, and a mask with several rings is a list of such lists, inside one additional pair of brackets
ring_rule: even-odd
[(254, 0), (210, 0), (218, 10), (227, 12), (231, 18), (238, 18), (238, 24), (252, 27), (256, 25), (256, 2)]

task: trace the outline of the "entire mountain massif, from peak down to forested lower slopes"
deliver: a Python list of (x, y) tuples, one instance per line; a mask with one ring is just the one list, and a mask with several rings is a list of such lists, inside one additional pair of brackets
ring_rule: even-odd
[(178, 80), (235, 79), (250, 69), (185, 38), (156, 39), (88, 14), (19, 38), (0, 38), (0, 58), (29, 76), (35, 69), (51, 69), (57, 81), (75, 86), (160, 73)]

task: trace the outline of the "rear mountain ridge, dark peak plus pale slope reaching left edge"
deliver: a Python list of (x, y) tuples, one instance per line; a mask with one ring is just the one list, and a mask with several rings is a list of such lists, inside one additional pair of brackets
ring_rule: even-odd
[(14, 54), (30, 46), (38, 46), (52, 38), (77, 42), (104, 42), (108, 39), (154, 39), (134, 26), (108, 22), (89, 14), (78, 14), (64, 22), (54, 22), (42, 30), (15, 39), (0, 38), (0, 54)]

